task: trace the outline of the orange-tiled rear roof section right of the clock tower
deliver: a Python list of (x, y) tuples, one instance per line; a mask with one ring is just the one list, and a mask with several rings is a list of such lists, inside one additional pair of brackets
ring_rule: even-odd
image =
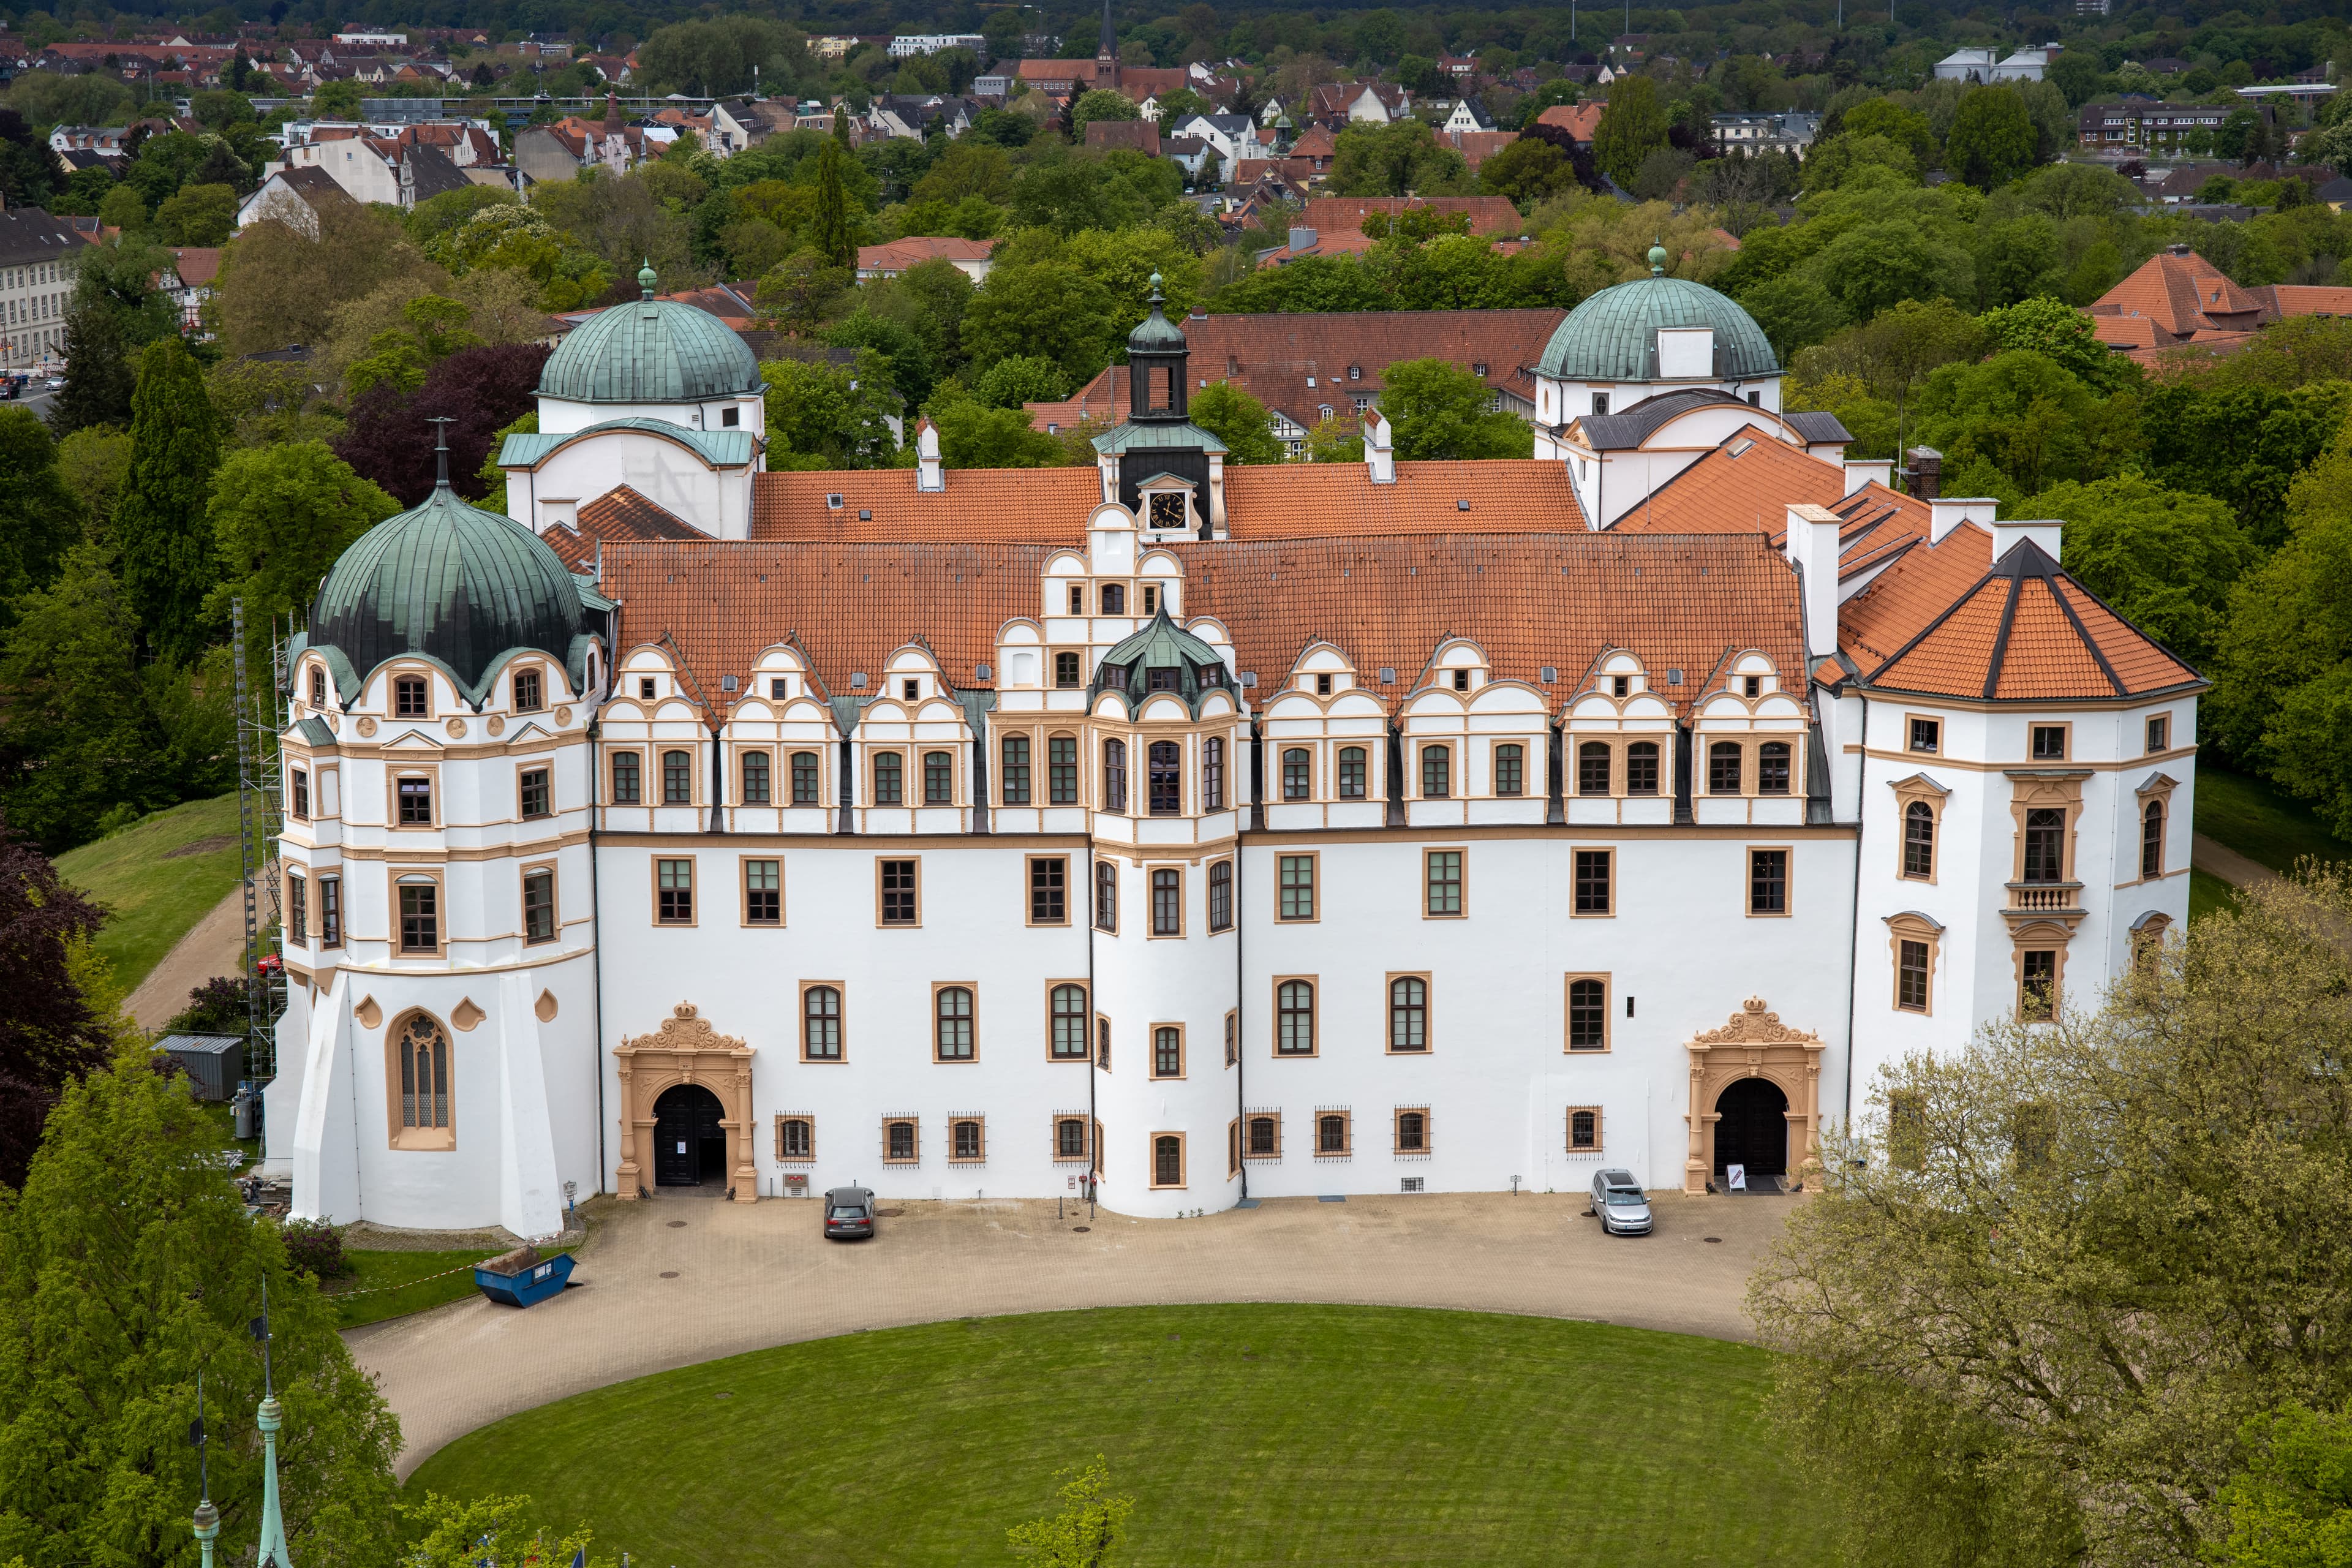
[[(1468, 503), (1468, 508), (1463, 505)], [(1232, 538), (1319, 534), (1569, 534), (1585, 527), (1564, 463), (1397, 463), (1374, 484), (1362, 463), (1265, 463), (1225, 470)]]

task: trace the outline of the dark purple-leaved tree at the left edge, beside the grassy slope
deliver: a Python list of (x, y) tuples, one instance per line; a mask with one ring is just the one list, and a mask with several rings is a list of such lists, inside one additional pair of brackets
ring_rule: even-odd
[(103, 919), (0, 818), (0, 1187), (24, 1185), (66, 1084), (106, 1065), (108, 1032), (71, 973)]

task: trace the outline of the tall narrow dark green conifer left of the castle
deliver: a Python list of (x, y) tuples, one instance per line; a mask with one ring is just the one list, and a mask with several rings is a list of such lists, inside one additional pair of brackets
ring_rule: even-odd
[(205, 505), (221, 465), (221, 428), (205, 376), (179, 339), (139, 355), (132, 480), (115, 505), (122, 590), (148, 646), (176, 663), (205, 649), (205, 595), (221, 578)]

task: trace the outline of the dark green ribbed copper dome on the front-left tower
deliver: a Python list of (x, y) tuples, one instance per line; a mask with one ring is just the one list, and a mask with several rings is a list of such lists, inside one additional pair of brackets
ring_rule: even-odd
[(362, 682), (386, 658), (423, 654), (480, 691), (501, 654), (567, 661), (579, 635), (579, 583), (548, 541), (437, 484), (327, 569), (306, 644), (339, 649)]

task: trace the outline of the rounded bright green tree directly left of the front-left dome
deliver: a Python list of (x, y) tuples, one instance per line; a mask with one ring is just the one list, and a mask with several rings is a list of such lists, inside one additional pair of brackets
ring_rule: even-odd
[[(221, 557), (214, 599), (245, 599), (247, 623), (306, 611), (327, 567), (400, 503), (325, 442), (230, 451), (205, 520)], [(226, 602), (214, 621), (226, 621)]]

